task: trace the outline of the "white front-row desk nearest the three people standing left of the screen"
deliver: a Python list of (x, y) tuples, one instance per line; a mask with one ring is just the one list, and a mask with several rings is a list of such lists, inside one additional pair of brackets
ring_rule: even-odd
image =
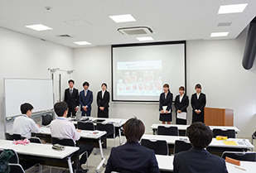
[[(103, 122), (100, 123), (113, 123), (114, 127), (118, 128), (118, 135), (119, 135), (119, 142), (120, 145), (122, 145), (122, 138), (121, 138), (121, 127), (123, 127), (123, 124), (128, 121), (128, 119), (121, 119), (121, 118), (94, 118), (94, 117), (88, 117), (89, 122), (96, 122), (97, 120), (104, 120)], [(71, 122), (77, 125), (78, 121), (72, 121), (70, 118)], [(96, 123), (94, 123), (94, 126), (96, 126)]]

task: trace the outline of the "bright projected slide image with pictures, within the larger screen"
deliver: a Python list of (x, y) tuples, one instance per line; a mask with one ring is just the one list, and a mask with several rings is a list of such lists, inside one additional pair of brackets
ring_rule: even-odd
[(158, 96), (162, 93), (162, 60), (118, 62), (117, 95)]

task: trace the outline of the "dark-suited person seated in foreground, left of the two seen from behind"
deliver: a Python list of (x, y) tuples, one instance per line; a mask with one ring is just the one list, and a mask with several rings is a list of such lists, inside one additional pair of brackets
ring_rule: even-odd
[(127, 142), (123, 146), (112, 148), (105, 173), (160, 172), (154, 151), (138, 143), (144, 132), (144, 124), (137, 118), (130, 118), (124, 124), (123, 133)]

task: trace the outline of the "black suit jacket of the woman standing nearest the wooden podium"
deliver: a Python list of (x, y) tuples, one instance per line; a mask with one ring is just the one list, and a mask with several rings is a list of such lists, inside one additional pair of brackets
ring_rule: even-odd
[(191, 106), (193, 108), (193, 112), (195, 112), (195, 110), (197, 109), (197, 110), (200, 110), (201, 113), (203, 113), (205, 109), (205, 104), (206, 104), (205, 94), (200, 93), (199, 99), (197, 99), (196, 94), (192, 94)]

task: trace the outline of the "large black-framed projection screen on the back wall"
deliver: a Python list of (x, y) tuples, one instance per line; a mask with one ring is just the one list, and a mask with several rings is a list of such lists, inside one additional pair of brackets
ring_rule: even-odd
[(185, 86), (185, 42), (112, 46), (112, 55), (114, 101), (154, 102), (163, 84), (174, 96)]

